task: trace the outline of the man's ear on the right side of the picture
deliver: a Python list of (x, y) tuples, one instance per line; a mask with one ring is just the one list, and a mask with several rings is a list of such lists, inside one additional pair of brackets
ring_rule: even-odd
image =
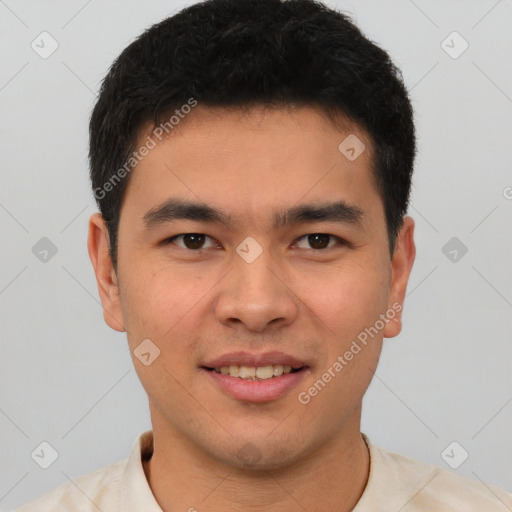
[(396, 314), (384, 328), (383, 334), (385, 338), (393, 338), (400, 334), (402, 330), (403, 303), (415, 256), (414, 220), (411, 217), (405, 217), (402, 228), (397, 236), (391, 260), (391, 290), (388, 310), (395, 311)]

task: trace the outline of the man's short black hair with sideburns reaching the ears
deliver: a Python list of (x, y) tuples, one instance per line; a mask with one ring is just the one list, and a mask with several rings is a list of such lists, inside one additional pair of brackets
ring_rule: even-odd
[(121, 203), (140, 130), (197, 103), (313, 106), (333, 122), (355, 122), (372, 143), (393, 253), (416, 138), (402, 74), (387, 52), (347, 14), (314, 0), (206, 0), (147, 29), (102, 82), (89, 125), (90, 177), (116, 270)]

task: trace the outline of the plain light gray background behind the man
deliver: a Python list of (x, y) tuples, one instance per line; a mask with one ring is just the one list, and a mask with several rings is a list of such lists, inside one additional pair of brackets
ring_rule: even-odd
[[(87, 122), (112, 60), (184, 5), (0, 0), (0, 510), (126, 457), (150, 428), (87, 255)], [(419, 138), (405, 325), (385, 341), (362, 430), (444, 467), (457, 441), (459, 473), (512, 491), (512, 2), (329, 5), (402, 69)], [(42, 31), (59, 44), (47, 59), (31, 48)], [(441, 46), (453, 31), (469, 43), (456, 59)], [(32, 252), (42, 237), (58, 249), (46, 263)], [(456, 262), (442, 252), (452, 237), (468, 248)], [(59, 454), (46, 470), (31, 458), (42, 441)]]

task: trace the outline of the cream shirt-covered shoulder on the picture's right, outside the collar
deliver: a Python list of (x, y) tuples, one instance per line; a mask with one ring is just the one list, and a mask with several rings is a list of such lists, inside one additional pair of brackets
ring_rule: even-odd
[(371, 445), (381, 491), (398, 496), (402, 512), (505, 512), (512, 494), (483, 481)]

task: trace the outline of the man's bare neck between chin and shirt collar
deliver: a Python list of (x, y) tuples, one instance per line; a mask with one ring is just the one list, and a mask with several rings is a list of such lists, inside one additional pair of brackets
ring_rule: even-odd
[(155, 452), (144, 470), (164, 512), (349, 512), (363, 494), (370, 469), (359, 422), (356, 426), (291, 466), (250, 471), (216, 460), (205, 464), (182, 438), (154, 425)]

